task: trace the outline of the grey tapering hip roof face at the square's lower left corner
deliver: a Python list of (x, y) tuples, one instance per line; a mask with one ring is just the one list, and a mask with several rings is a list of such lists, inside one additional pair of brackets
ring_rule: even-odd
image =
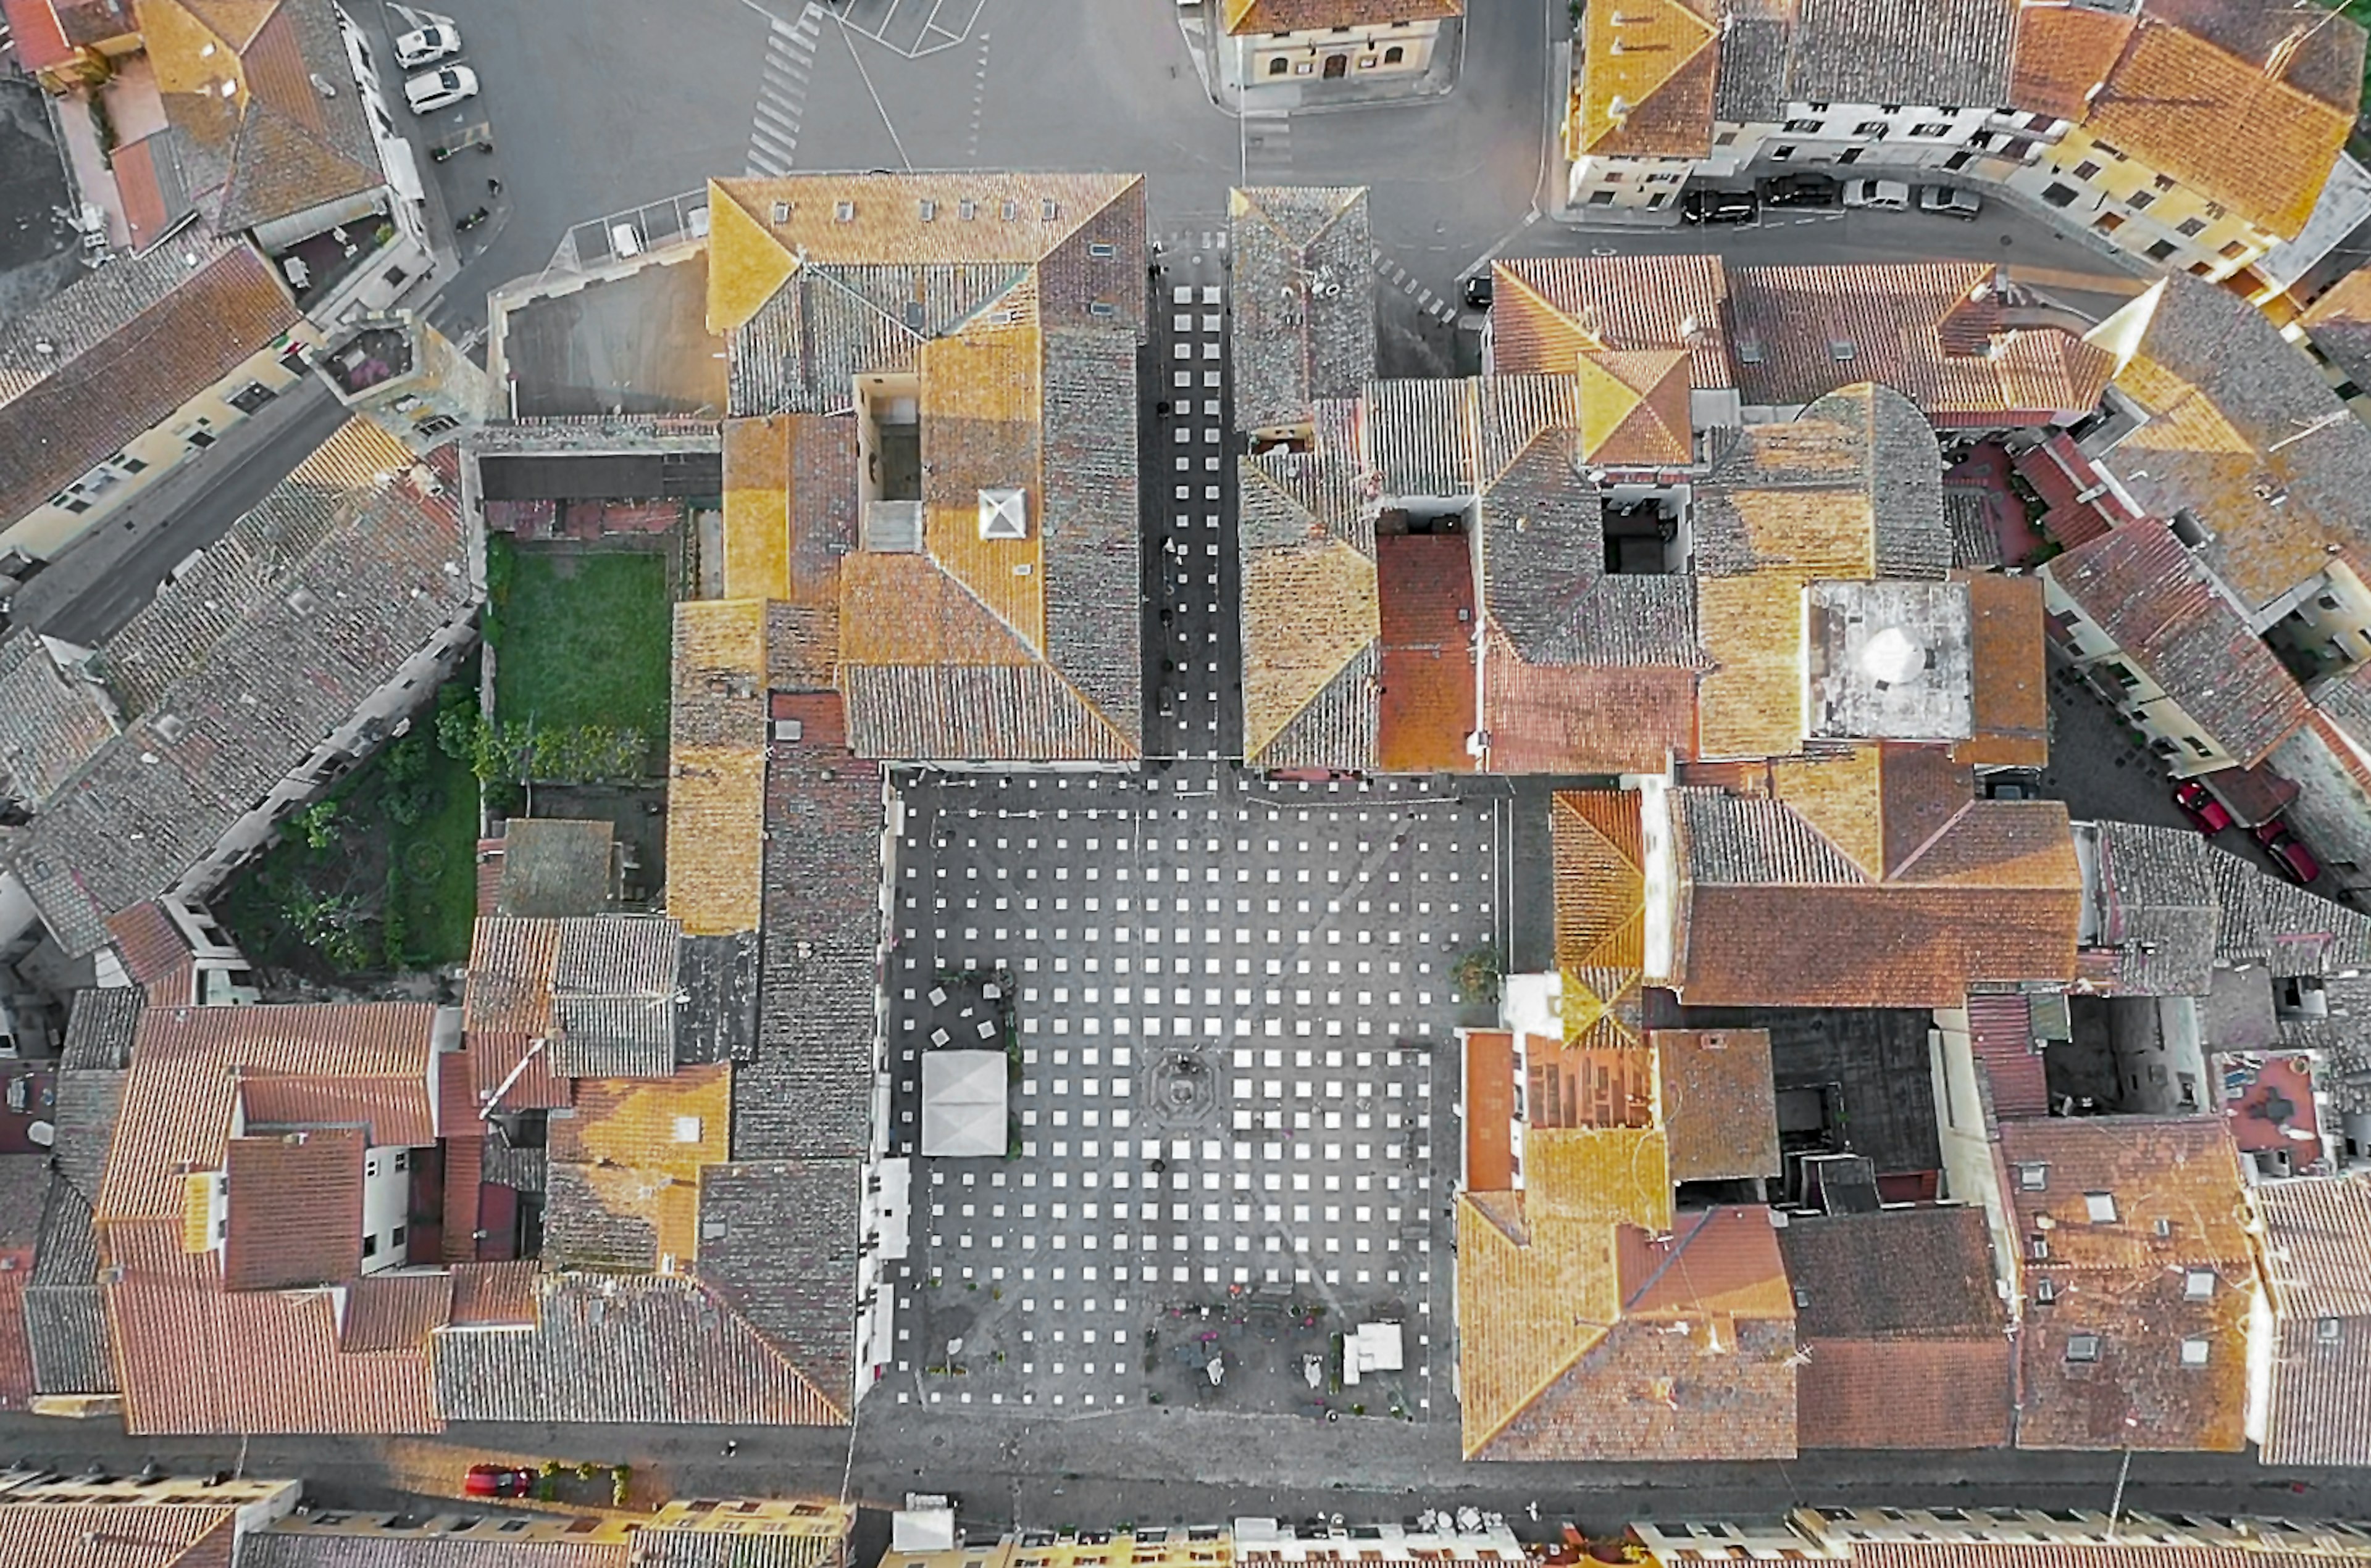
[(747, 1161), (699, 1172), (699, 1277), (823, 1393), (856, 1397), (863, 1161)]

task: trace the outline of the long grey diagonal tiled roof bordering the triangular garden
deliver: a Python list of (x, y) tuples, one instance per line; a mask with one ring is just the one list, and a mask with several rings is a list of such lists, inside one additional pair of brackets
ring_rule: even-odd
[[(467, 621), (462, 554), (453, 486), (351, 419), (109, 637), (107, 682), (140, 718), (9, 850), (59, 945), (104, 945), (111, 914), (175, 888), (325, 734)], [(287, 680), (296, 668), (306, 680)]]

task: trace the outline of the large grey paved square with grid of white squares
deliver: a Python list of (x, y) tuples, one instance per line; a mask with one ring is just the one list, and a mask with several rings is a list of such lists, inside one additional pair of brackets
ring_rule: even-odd
[[(894, 1397), (1453, 1419), (1456, 1030), (1491, 1007), (1451, 976), (1503, 950), (1503, 793), (1186, 765), (901, 801)], [(1008, 1056), (1003, 1158), (920, 1153), (934, 1049)]]

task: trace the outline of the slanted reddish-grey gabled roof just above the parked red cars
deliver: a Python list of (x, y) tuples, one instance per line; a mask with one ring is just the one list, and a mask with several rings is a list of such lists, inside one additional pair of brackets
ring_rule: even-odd
[(2041, 571), (2243, 767), (2305, 722), (2305, 689), (2169, 526), (2127, 523)]

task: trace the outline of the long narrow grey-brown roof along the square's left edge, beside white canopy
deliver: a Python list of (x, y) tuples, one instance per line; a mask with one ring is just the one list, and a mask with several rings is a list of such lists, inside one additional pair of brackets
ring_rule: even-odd
[(809, 739), (766, 763), (759, 1035), (733, 1071), (733, 1158), (856, 1158), (873, 1130), (882, 784)]

